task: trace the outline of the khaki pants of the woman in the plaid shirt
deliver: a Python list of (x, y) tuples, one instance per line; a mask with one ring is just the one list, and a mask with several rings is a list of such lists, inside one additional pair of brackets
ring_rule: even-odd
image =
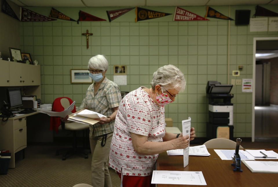
[(112, 136), (113, 132), (107, 134), (105, 146), (101, 146), (103, 135), (94, 136), (92, 133), (89, 137), (92, 152), (92, 186), (94, 187), (112, 187), (107, 164)]

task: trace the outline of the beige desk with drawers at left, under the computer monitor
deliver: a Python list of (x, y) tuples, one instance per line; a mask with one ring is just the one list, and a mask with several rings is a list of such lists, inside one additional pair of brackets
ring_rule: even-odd
[(0, 120), (0, 149), (11, 153), (9, 168), (15, 167), (14, 154), (27, 147), (26, 117), (37, 113), (39, 112), (14, 116), (5, 122)]

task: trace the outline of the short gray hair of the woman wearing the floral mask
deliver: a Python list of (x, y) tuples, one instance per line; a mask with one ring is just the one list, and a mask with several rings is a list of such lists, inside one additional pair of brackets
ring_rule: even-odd
[(153, 73), (151, 88), (155, 90), (156, 85), (160, 85), (164, 90), (178, 88), (184, 91), (186, 82), (180, 69), (174, 65), (165, 65)]

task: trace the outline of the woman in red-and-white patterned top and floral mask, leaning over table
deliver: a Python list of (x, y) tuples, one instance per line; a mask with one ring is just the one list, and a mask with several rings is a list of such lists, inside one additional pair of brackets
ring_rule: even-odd
[(158, 68), (151, 88), (140, 87), (120, 102), (110, 148), (109, 166), (122, 180), (122, 187), (155, 186), (151, 174), (158, 157), (172, 149), (184, 149), (195, 137), (165, 131), (164, 105), (175, 101), (185, 89), (184, 74), (173, 65)]

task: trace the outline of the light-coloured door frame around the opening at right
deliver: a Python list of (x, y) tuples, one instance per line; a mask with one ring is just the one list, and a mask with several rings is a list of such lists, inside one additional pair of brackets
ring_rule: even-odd
[(259, 40), (278, 40), (278, 37), (253, 38), (253, 91), (252, 91), (252, 142), (255, 141), (255, 82), (256, 82), (256, 42)]

